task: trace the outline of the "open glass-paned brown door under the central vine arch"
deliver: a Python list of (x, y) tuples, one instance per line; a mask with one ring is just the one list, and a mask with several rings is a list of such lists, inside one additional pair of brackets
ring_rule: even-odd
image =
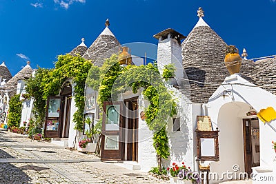
[(124, 106), (122, 102), (103, 102), (101, 136), (101, 160), (122, 160), (122, 125)]

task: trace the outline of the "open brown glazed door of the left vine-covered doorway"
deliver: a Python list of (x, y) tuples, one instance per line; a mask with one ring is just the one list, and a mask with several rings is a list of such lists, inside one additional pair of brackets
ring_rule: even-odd
[(64, 101), (62, 96), (51, 96), (47, 99), (44, 136), (60, 138), (62, 129), (62, 114)]

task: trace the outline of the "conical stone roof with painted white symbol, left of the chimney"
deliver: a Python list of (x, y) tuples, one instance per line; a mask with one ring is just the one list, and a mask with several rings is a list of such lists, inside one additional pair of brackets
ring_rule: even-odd
[[(103, 65), (104, 59), (111, 57), (112, 54), (119, 52), (117, 47), (120, 45), (114, 34), (108, 28), (109, 21), (106, 21), (106, 28), (99, 34), (99, 37), (90, 45), (83, 54), (83, 58), (89, 59), (97, 66)], [(97, 60), (99, 59), (99, 60)], [(97, 60), (97, 61), (96, 61)]]

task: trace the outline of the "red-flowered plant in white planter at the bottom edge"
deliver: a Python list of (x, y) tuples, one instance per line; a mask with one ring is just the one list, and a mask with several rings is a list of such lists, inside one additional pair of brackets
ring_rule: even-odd
[(186, 167), (186, 165), (184, 165), (184, 162), (182, 162), (181, 166), (178, 166), (176, 163), (172, 163), (172, 167), (168, 167), (167, 170), (170, 174), (170, 183), (200, 183), (198, 172), (192, 172), (190, 167)]

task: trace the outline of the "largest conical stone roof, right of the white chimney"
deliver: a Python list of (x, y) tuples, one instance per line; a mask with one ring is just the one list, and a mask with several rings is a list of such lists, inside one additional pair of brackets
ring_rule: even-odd
[(193, 103), (207, 103), (215, 92), (213, 85), (205, 83), (220, 84), (229, 76), (224, 65), (226, 43), (202, 17), (203, 12), (182, 43), (183, 67), (190, 80), (190, 100)]

